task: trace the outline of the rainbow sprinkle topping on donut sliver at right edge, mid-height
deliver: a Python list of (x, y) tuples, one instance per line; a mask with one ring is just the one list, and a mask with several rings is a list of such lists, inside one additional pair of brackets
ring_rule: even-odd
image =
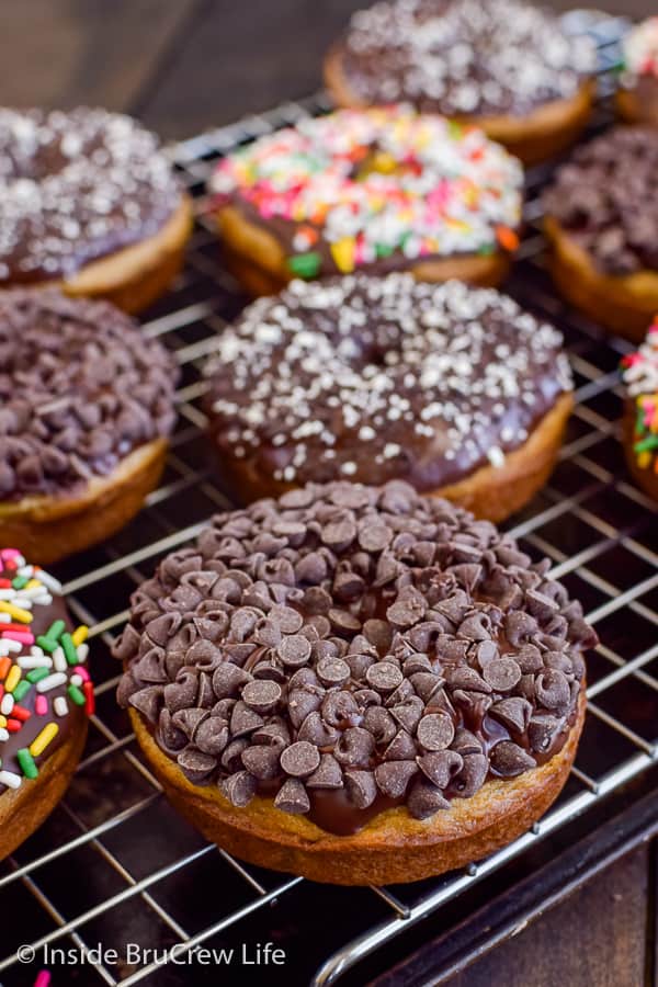
[(639, 350), (622, 360), (622, 373), (635, 398), (633, 451), (637, 465), (658, 474), (658, 316)]

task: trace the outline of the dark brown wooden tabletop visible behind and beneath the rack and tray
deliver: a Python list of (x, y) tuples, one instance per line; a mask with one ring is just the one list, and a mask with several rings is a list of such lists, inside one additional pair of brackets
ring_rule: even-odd
[[(2, 0), (0, 100), (100, 104), (140, 116), (164, 137), (189, 136), (317, 89), (324, 52), (361, 5)], [(655, 10), (651, 0), (595, 5), (631, 16)], [(451, 987), (650, 987), (658, 968), (655, 854), (647, 844), (622, 858)]]

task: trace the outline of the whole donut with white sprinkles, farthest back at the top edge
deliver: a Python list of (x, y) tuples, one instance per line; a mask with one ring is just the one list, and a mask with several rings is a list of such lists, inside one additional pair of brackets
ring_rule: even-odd
[(384, 0), (352, 15), (325, 80), (339, 106), (409, 102), (534, 163), (585, 126), (595, 63), (590, 38), (519, 0)]

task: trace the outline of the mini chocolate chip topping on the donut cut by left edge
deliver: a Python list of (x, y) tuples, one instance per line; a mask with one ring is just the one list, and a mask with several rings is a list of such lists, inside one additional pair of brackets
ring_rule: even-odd
[(178, 368), (106, 302), (0, 292), (0, 499), (75, 492), (168, 435)]

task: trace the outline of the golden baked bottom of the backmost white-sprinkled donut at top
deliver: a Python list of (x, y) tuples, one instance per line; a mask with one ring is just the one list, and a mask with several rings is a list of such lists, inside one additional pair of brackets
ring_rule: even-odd
[[(325, 59), (325, 84), (333, 102), (343, 109), (364, 109), (367, 101), (350, 88), (342, 69), (341, 47)], [(504, 145), (524, 164), (535, 164), (569, 147), (589, 120), (595, 83), (588, 79), (564, 100), (552, 100), (524, 116), (461, 116), (460, 123), (480, 127), (491, 140)]]

